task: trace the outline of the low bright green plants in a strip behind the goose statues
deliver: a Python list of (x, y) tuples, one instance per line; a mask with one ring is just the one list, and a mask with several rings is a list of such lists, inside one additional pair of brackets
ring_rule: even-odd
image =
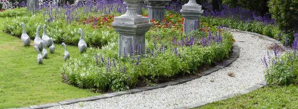
[[(21, 22), (24, 22), (26, 32), (30, 38), (35, 38), (38, 25), (43, 26), (46, 24), (47, 35), (52, 37), (55, 43), (65, 42), (68, 45), (77, 45), (80, 36), (78, 28), (82, 28), (84, 39), (89, 46), (101, 47), (110, 41), (118, 40), (118, 37), (114, 37), (117, 36), (118, 33), (109, 27), (103, 26), (101, 31), (94, 31), (90, 25), (78, 25), (77, 23), (67, 24), (59, 19), (48, 22), (43, 20), (43, 16), (40, 15), (40, 13), (37, 13), (35, 16), (7, 17), (5, 21), (2, 22), (2, 26), (4, 27), (3, 31), (19, 37), (23, 30), (22, 26), (20, 26)], [(39, 34), (41, 35), (42, 32), (43, 28), (39, 31)]]

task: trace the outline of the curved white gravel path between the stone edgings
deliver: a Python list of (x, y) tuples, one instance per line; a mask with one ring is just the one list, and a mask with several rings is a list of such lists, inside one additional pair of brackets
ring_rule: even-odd
[[(265, 66), (261, 58), (273, 43), (245, 33), (232, 34), (240, 48), (239, 58), (210, 75), (184, 84), (50, 109), (173, 109), (245, 90), (264, 80)], [(228, 72), (233, 72), (235, 77), (229, 77)], [(215, 82), (210, 82), (211, 79)]]

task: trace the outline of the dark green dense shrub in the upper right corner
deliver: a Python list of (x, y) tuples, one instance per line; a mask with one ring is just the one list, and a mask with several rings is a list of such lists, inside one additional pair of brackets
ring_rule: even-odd
[(280, 30), (298, 32), (298, 0), (270, 0), (268, 6)]

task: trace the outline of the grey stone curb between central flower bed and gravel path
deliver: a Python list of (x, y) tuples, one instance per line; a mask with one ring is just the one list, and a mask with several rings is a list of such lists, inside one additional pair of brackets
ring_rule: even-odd
[[(202, 72), (202, 76), (206, 76), (206, 75), (211, 74), (212, 72), (218, 71), (219, 69), (222, 69), (225, 66), (230, 65), (233, 61), (235, 61), (239, 57), (240, 50), (236, 43), (233, 43), (232, 47), (233, 47), (233, 49), (232, 49), (233, 54), (230, 56), (230, 58), (225, 60), (227, 63), (224, 63), (224, 65), (217, 65), (215, 67), (212, 67), (212, 68)], [(88, 102), (88, 101), (112, 98), (112, 97), (121, 96), (121, 95), (125, 95), (125, 94), (134, 94), (134, 93), (148, 91), (148, 90), (152, 90), (152, 89), (163, 88), (166, 86), (182, 84), (182, 83), (191, 81), (193, 79), (200, 78), (202, 76), (191, 76), (191, 77), (187, 77), (187, 78), (173, 80), (173, 81), (166, 82), (166, 83), (157, 84), (155, 86), (147, 86), (147, 87), (131, 89), (131, 90), (127, 90), (127, 91), (114, 92), (114, 93), (109, 93), (109, 94), (104, 94), (104, 95), (99, 95), (99, 96), (80, 98), (80, 99), (69, 100), (69, 101), (62, 101), (62, 102), (53, 103), (53, 104), (44, 104), (44, 105), (38, 105), (38, 106), (34, 105), (34, 106), (30, 106), (30, 107), (16, 108), (16, 109), (46, 109), (46, 108), (51, 108), (51, 107), (59, 106), (59, 105), (70, 105), (70, 104), (75, 104), (78, 102)], [(202, 103), (200, 103), (200, 104), (202, 104)], [(13, 109), (15, 109), (15, 108), (13, 108)]]

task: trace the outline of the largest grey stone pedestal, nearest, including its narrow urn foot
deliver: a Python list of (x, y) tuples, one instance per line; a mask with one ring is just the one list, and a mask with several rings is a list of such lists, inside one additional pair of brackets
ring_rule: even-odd
[[(124, 50), (127, 54), (132, 53), (133, 46), (134, 55), (145, 54), (145, 33), (153, 25), (149, 23), (148, 17), (142, 17), (137, 13), (137, 7), (141, 0), (124, 0), (127, 5), (125, 14), (115, 17), (111, 26), (119, 33), (118, 36), (118, 56), (123, 56)], [(137, 44), (136, 44), (137, 43)], [(141, 50), (138, 51), (138, 46)]]

